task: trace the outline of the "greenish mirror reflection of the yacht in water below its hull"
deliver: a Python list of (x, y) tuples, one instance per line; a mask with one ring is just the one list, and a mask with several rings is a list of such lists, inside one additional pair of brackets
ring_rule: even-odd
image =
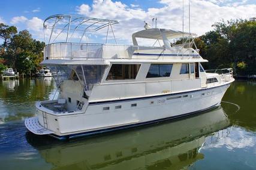
[(203, 159), (206, 137), (227, 128), (222, 107), (175, 122), (113, 135), (60, 142), (35, 138), (28, 142), (53, 169), (181, 169)]

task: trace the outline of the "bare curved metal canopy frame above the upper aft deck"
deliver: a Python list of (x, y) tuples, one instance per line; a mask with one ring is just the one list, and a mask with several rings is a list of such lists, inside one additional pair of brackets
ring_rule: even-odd
[(97, 32), (109, 26), (112, 28), (113, 24), (118, 23), (116, 20), (58, 14), (44, 20), (44, 39), (48, 44), (69, 42), (71, 38), (80, 39), (81, 42), (86, 32)]

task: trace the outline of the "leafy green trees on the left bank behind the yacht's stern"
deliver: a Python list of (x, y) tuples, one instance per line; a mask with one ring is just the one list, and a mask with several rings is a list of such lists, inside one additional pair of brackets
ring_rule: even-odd
[(40, 69), (45, 44), (33, 39), (28, 30), (17, 32), (17, 27), (0, 23), (0, 39), (0, 71), (11, 67), (31, 76)]

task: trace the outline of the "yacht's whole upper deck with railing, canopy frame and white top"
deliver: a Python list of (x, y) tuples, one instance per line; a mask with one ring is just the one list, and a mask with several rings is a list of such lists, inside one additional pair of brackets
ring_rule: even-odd
[[(197, 60), (197, 62), (206, 61), (200, 57), (198, 50), (191, 48), (192, 44), (195, 46), (195, 34), (193, 33), (159, 28), (144, 29), (132, 34), (133, 45), (119, 45), (116, 42), (112, 27), (118, 23), (116, 20), (63, 14), (46, 18), (43, 24), (47, 44), (44, 48), (44, 60), (48, 61), (44, 61), (43, 64), (56, 64), (56, 62), (61, 64), (59, 60), (65, 59), (74, 61), (81, 59), (158, 60), (161, 58), (162, 61), (170, 62), (173, 59), (185, 58), (187, 60)], [(107, 30), (105, 32), (106, 42), (104, 44), (89, 43), (88, 34), (97, 32), (97, 35), (103, 36), (104, 28)], [(111, 32), (116, 44), (107, 44)], [(137, 38), (153, 39), (155, 43), (152, 46), (141, 46), (138, 45)], [(180, 40), (180, 38), (183, 39), (182, 44), (172, 43)], [(102, 37), (99, 39), (102, 39)], [(159, 45), (156, 45), (157, 42)], [(89, 60), (86, 62), (89, 63)], [(175, 62), (178, 61), (175, 60)], [(103, 62), (103, 64), (106, 64), (106, 62)]]

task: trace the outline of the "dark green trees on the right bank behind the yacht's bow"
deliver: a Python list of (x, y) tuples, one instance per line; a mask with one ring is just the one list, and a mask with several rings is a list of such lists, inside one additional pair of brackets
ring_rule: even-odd
[(206, 69), (231, 67), (238, 76), (256, 75), (256, 20), (230, 20), (195, 38)]

